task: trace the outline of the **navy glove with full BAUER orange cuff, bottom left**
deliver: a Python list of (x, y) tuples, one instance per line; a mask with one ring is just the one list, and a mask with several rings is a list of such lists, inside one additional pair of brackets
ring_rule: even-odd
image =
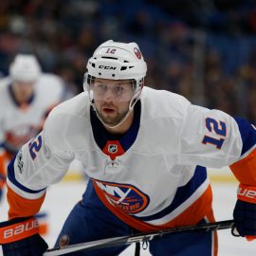
[(42, 256), (48, 246), (38, 231), (35, 218), (17, 218), (0, 223), (0, 244), (4, 256)]

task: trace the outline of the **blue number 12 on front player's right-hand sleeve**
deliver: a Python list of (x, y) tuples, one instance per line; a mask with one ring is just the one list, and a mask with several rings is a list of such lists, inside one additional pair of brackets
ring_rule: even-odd
[(215, 119), (206, 119), (206, 127), (211, 132), (218, 136), (221, 136), (220, 138), (205, 136), (202, 140), (202, 143), (204, 144), (212, 144), (215, 145), (217, 149), (221, 149), (223, 142), (225, 141), (225, 137), (227, 136), (227, 127), (226, 123), (224, 121), (217, 121)]

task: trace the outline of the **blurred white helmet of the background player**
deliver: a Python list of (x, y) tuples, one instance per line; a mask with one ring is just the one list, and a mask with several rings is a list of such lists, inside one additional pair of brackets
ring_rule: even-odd
[(41, 74), (41, 66), (32, 54), (17, 54), (9, 65), (9, 76), (17, 82), (35, 82)]

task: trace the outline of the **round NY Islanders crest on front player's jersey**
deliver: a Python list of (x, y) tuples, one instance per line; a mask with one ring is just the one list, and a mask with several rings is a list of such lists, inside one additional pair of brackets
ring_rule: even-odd
[(150, 198), (147, 194), (140, 192), (135, 186), (130, 184), (119, 184), (104, 182), (93, 179), (95, 185), (110, 204), (119, 208), (125, 213), (135, 214), (144, 210)]

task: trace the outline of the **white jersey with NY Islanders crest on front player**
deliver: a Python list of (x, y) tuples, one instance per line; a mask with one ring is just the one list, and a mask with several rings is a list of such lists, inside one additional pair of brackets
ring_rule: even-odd
[[(209, 179), (201, 166), (227, 166), (255, 149), (255, 140), (246, 141), (229, 115), (167, 91), (145, 87), (136, 122), (123, 137), (100, 146), (85, 93), (57, 106), (44, 131), (9, 165), (10, 217), (34, 214), (38, 205), (19, 212), (16, 194), (41, 204), (46, 187), (60, 181), (77, 158), (101, 201), (131, 226), (196, 222), (211, 210)], [(247, 130), (255, 137), (250, 125)]]

